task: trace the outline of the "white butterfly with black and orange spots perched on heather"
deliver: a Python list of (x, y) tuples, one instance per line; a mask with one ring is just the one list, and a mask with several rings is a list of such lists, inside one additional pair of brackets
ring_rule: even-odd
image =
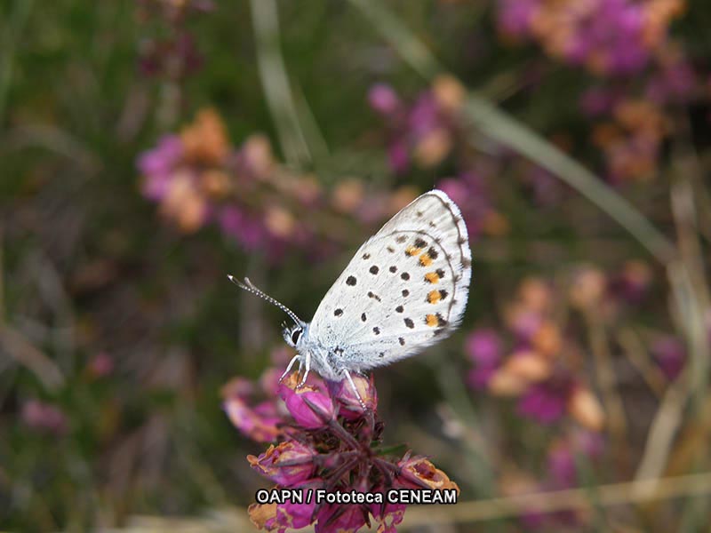
[(297, 354), (282, 378), (299, 362), (305, 368), (300, 386), (315, 370), (331, 381), (348, 379), (357, 396), (351, 372), (418, 354), (461, 322), (471, 280), (467, 225), (443, 191), (420, 195), (356, 251), (311, 322), (249, 278), (228, 278), (292, 319), (284, 340)]

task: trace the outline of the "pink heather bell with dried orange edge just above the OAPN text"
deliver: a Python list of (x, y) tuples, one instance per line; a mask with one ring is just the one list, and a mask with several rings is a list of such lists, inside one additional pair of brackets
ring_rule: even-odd
[(297, 486), (316, 471), (315, 452), (296, 441), (271, 445), (260, 457), (247, 456), (254, 470), (283, 487)]

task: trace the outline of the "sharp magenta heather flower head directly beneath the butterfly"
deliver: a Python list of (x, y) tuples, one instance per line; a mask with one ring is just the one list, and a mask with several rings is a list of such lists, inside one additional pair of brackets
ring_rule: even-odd
[[(271, 370), (262, 379), (263, 393), (275, 386)], [(252, 468), (278, 489), (325, 489), (329, 492), (385, 493), (388, 489), (457, 489), (445, 473), (424, 457), (392, 457), (381, 447), (384, 424), (377, 414), (372, 378), (354, 377), (365, 409), (348, 384), (309, 378), (297, 386), (295, 374), (276, 383), (276, 399), (254, 408), (246, 400), (254, 386), (244, 379), (228, 384), (225, 410), (236, 427), (260, 442), (276, 441), (260, 456), (248, 456)], [(357, 531), (377, 525), (395, 532), (403, 520), (402, 504), (306, 503), (252, 504), (252, 522), (268, 531), (284, 532), (314, 524), (316, 532)]]

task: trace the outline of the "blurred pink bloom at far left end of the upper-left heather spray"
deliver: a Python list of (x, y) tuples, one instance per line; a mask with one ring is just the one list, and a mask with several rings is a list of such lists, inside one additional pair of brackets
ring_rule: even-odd
[(158, 146), (140, 155), (138, 167), (145, 178), (143, 195), (150, 200), (162, 200), (182, 156), (183, 144), (177, 135), (166, 135), (158, 141)]

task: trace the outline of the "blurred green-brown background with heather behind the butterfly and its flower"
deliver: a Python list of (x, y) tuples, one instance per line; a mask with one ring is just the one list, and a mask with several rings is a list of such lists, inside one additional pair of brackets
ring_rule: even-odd
[(467, 314), (375, 378), (461, 494), (401, 529), (707, 530), (706, 2), (0, 13), (0, 529), (251, 530), (220, 391), (291, 353), (226, 274), (308, 319), (440, 187)]

